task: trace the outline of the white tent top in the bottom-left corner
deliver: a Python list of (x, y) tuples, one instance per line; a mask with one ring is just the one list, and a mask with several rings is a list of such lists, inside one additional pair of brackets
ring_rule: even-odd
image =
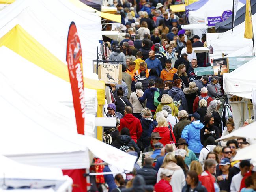
[[(59, 168), (46, 168), (21, 164), (4, 157), (3, 155), (0, 155), (0, 162), (0, 180), (4, 179), (6, 186), (13, 188), (32, 186), (32, 188), (43, 189), (45, 186), (52, 185), (52, 188), (50, 188), (52, 191), (72, 191), (72, 179), (67, 175), (63, 176), (62, 170)], [(0, 189), (1, 188), (2, 185), (0, 186)], [(29, 190), (24, 190), (24, 192), (25, 191)]]

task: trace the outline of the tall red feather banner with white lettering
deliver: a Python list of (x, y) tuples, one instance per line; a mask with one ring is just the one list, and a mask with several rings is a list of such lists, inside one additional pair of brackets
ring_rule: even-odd
[(82, 71), (82, 49), (78, 37), (77, 28), (74, 22), (69, 26), (67, 35), (67, 68), (72, 89), (75, 117), (77, 123), (77, 133), (84, 134), (84, 81)]

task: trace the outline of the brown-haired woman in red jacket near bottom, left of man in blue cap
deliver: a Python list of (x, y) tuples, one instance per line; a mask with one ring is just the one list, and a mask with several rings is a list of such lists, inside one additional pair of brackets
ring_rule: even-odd
[(207, 159), (204, 162), (204, 172), (199, 176), (199, 181), (204, 185), (208, 192), (215, 192), (215, 188), (219, 188), (216, 178), (213, 176), (216, 170), (216, 161)]

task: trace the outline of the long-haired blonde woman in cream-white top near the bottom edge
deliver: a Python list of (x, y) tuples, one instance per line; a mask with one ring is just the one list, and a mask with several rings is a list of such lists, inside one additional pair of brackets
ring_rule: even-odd
[(174, 171), (170, 185), (172, 186), (173, 191), (181, 191), (183, 186), (186, 184), (185, 175), (181, 167), (178, 166), (176, 162), (177, 160), (173, 152), (167, 153), (165, 155), (163, 164), (157, 172), (157, 182), (160, 181), (160, 175), (164, 169)]

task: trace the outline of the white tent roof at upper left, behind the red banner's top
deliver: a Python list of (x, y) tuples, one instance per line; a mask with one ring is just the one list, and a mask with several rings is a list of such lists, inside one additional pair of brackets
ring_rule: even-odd
[[(0, 11), (0, 37), (20, 24), (62, 62), (66, 60), (67, 33), (74, 21), (80, 37), (84, 75), (92, 72), (101, 37), (101, 17), (78, 9), (67, 0), (17, 0)], [(66, 63), (66, 62), (65, 62)]]

